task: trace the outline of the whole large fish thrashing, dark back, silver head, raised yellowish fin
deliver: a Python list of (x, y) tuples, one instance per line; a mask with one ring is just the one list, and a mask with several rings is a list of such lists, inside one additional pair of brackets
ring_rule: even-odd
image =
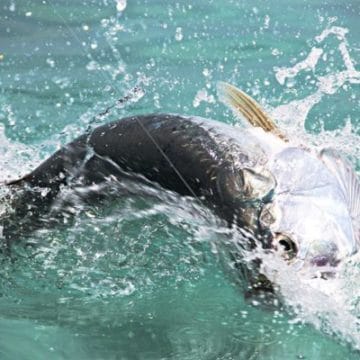
[(332, 149), (298, 145), (233, 85), (219, 83), (218, 92), (245, 126), (175, 114), (130, 116), (81, 135), (7, 181), (3, 247), (69, 216), (64, 190), (96, 202), (104, 184), (131, 182), (204, 203), (228, 226), (251, 234), (241, 244), (246, 249), (260, 244), (289, 264), (336, 269), (360, 243), (360, 184), (350, 162)]

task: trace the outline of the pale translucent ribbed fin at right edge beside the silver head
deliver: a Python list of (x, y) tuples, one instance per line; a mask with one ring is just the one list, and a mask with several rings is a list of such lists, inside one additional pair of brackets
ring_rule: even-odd
[(320, 158), (336, 176), (344, 193), (357, 243), (360, 245), (360, 181), (351, 164), (336, 150), (324, 149)]

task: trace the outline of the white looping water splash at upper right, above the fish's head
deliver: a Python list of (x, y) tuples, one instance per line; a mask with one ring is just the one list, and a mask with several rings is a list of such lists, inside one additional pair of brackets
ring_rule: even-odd
[[(325, 29), (319, 36), (315, 38), (316, 46), (314, 46), (308, 56), (292, 67), (274, 68), (275, 77), (278, 82), (286, 86), (303, 71), (311, 71), (316, 78), (317, 89), (310, 95), (302, 99), (290, 101), (287, 104), (275, 107), (271, 111), (273, 118), (277, 119), (281, 125), (285, 126), (291, 135), (298, 137), (301, 134), (302, 140), (313, 143), (315, 145), (336, 144), (331, 141), (334, 136), (338, 137), (338, 133), (323, 132), (321, 136), (307, 134), (304, 132), (305, 120), (308, 118), (309, 112), (318, 104), (325, 95), (334, 95), (339, 89), (347, 84), (360, 84), (360, 72), (356, 70), (354, 60), (350, 56), (349, 43), (346, 39), (348, 29), (332, 26)], [(331, 36), (335, 36), (339, 41), (337, 50), (343, 61), (343, 70), (330, 72), (326, 75), (317, 75), (317, 67), (321, 59), (326, 60), (326, 49), (324, 41)], [(350, 126), (350, 124), (348, 124)], [(340, 138), (341, 147), (346, 143), (356, 144), (357, 137), (353, 132), (346, 131), (346, 136)], [(336, 145), (335, 145), (336, 146)], [(356, 146), (355, 156), (360, 156), (360, 149)]]

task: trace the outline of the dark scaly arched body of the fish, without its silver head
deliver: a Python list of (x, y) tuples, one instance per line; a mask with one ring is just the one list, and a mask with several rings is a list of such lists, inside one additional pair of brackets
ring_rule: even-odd
[(80, 136), (10, 181), (14, 211), (3, 217), (3, 234), (12, 242), (28, 233), (66, 187), (124, 178), (197, 198), (229, 225), (257, 232), (260, 205), (274, 187), (271, 174), (264, 176), (266, 162), (255, 137), (220, 122), (171, 114), (120, 119)]

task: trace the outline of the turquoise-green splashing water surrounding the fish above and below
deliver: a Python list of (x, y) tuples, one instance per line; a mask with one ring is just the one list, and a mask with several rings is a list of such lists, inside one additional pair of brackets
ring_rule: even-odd
[[(299, 142), (357, 165), (359, 12), (348, 0), (0, 0), (1, 179), (129, 114), (238, 124), (218, 80)], [(266, 309), (224, 265), (226, 231), (189, 199), (157, 194), (34, 234), (36, 246), (1, 259), (1, 358), (358, 359), (356, 257), (331, 286), (268, 259), (286, 310)]]

